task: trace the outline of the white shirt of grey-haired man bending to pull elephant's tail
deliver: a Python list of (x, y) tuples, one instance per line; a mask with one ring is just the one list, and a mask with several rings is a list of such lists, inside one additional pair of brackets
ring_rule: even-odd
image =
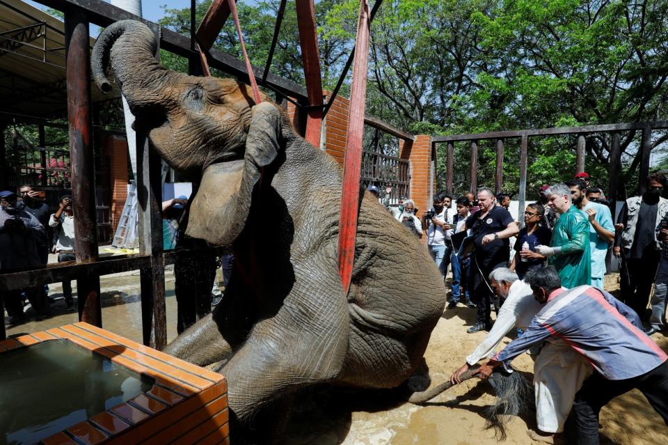
[(511, 329), (525, 329), (542, 308), (543, 305), (536, 302), (531, 286), (522, 280), (515, 281), (510, 286), (508, 297), (504, 300), (492, 329), (482, 343), (466, 357), (466, 363), (475, 365), (481, 359), (489, 357)]

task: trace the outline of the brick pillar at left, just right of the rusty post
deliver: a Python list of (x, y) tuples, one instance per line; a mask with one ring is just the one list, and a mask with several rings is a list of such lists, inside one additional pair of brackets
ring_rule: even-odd
[(127, 141), (116, 134), (102, 136), (102, 156), (109, 159), (111, 176), (111, 233), (116, 233), (118, 220), (127, 199)]

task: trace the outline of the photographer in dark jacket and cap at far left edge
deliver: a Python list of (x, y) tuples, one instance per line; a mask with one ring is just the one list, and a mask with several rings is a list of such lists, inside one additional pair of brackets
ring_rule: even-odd
[[(33, 215), (17, 208), (17, 196), (13, 192), (0, 192), (0, 270), (41, 265), (38, 241), (45, 236), (44, 226)], [(44, 292), (40, 288), (24, 289), (30, 304), (43, 320), (48, 311)], [(2, 299), (10, 316), (10, 325), (25, 321), (20, 290), (3, 292)]]

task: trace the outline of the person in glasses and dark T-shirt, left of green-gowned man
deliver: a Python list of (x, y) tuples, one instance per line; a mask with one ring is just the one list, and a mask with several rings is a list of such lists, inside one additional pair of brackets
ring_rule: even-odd
[(536, 252), (536, 246), (550, 245), (552, 231), (539, 224), (545, 214), (545, 208), (539, 203), (527, 205), (524, 212), (524, 227), (520, 229), (513, 249), (515, 256), (510, 263), (510, 269), (514, 270), (520, 279), (532, 269), (539, 269), (545, 263), (545, 257)]

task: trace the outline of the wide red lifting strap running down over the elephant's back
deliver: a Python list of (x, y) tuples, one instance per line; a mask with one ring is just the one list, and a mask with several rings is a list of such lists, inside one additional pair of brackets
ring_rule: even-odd
[(362, 137), (364, 134), (367, 64), (369, 59), (369, 23), (369, 3), (367, 0), (360, 0), (339, 218), (339, 274), (346, 294), (350, 290), (350, 281), (353, 274), (357, 217), (360, 204), (360, 169), (362, 166)]

